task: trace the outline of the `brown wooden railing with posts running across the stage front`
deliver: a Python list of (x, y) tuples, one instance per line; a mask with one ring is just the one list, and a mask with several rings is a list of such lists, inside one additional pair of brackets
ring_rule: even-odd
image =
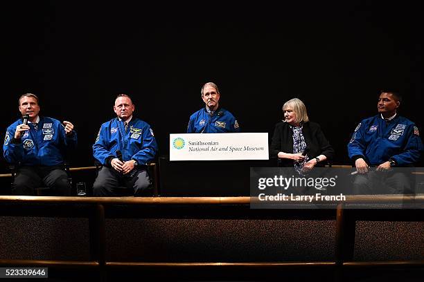
[[(240, 209), (249, 209), (249, 197), (213, 197), (213, 198), (134, 198), (134, 197), (116, 197), (116, 198), (98, 198), (98, 197), (49, 197), (49, 196), (0, 196), (0, 207), (3, 203), (16, 203), (25, 204), (30, 207), (32, 204), (43, 204), (47, 216), (55, 216), (55, 211), (49, 209), (50, 204), (66, 205), (65, 213), (72, 217), (86, 216), (89, 218), (89, 234), (90, 234), (90, 256), (89, 261), (42, 261), (42, 260), (12, 260), (1, 259), (0, 266), (13, 266), (13, 265), (28, 265), (28, 266), (48, 266), (48, 267), (76, 267), (76, 268), (92, 268), (100, 272), (106, 271), (109, 267), (159, 267), (159, 268), (229, 268), (231, 267), (259, 267), (259, 268), (280, 268), (280, 267), (336, 267), (344, 269), (346, 267), (424, 267), (424, 261), (353, 261), (353, 247), (355, 244), (355, 221), (361, 220), (391, 220), (390, 214), (387, 210), (375, 210), (370, 213), (368, 210), (361, 209), (346, 209), (345, 206), (351, 203), (370, 203), (387, 204), (393, 201), (401, 200), (403, 203), (414, 203), (419, 207), (424, 207), (424, 196), (347, 196), (344, 203), (339, 203), (334, 212), (330, 212), (330, 218), (336, 221), (335, 230), (335, 257), (333, 261), (306, 261), (306, 262), (139, 262), (139, 261), (107, 261), (105, 257), (106, 241), (105, 241), (105, 210), (113, 205), (128, 205), (128, 206), (149, 206), (152, 209), (163, 211), (167, 207), (173, 207), (172, 211), (175, 213), (178, 209), (175, 207), (190, 207), (193, 212), (197, 209), (204, 209), (205, 207), (213, 207), (213, 211), (225, 207), (227, 218), (232, 218), (231, 212), (234, 212), (234, 217), (237, 218)], [(85, 204), (89, 208), (83, 211), (76, 212), (80, 206), (76, 204)], [(39, 206), (37, 206), (39, 209)], [(252, 210), (250, 212), (260, 212), (262, 210)], [(238, 212), (237, 212), (238, 211)], [(25, 216), (21, 210), (15, 211), (17, 216)], [(315, 209), (310, 212), (302, 212), (300, 216), (308, 220), (321, 219), (321, 213), (327, 213), (328, 210)], [(28, 216), (31, 215), (30, 209), (26, 211)], [(229, 213), (229, 214), (228, 214)], [(14, 211), (10, 210), (8, 205), (8, 216), (13, 215)], [(267, 212), (265, 217), (275, 218), (281, 217), (281, 212), (275, 209), (272, 212)], [(412, 216), (414, 214), (414, 216)], [(0, 215), (1, 216), (1, 215)], [(62, 215), (63, 216), (63, 215)], [(66, 215), (65, 215), (66, 216)], [(137, 218), (137, 215), (131, 212), (125, 214), (130, 218)], [(198, 216), (198, 215), (197, 215)], [(262, 215), (263, 216), (263, 215)], [(417, 220), (424, 221), (423, 210), (397, 210), (396, 220)], [(421, 246), (423, 247), (423, 246)]]

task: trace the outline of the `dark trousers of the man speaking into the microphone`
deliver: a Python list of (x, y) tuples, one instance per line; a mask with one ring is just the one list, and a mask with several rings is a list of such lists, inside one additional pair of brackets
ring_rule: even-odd
[(53, 167), (19, 167), (12, 185), (12, 194), (35, 196), (35, 189), (46, 186), (55, 196), (71, 196), (71, 184), (61, 165)]

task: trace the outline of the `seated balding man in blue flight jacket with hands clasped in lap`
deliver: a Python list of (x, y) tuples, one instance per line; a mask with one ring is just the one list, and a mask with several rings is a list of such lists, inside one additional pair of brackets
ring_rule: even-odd
[[(100, 127), (93, 152), (103, 167), (93, 185), (94, 196), (152, 194), (147, 164), (157, 153), (157, 142), (150, 125), (132, 115), (134, 109), (130, 96), (119, 94), (117, 118)], [(127, 189), (116, 189), (120, 185)]]

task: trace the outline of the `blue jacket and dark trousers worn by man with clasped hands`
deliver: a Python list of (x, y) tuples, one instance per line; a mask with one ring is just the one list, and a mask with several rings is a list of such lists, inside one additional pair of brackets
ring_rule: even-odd
[[(153, 131), (143, 120), (133, 117), (126, 132), (124, 122), (118, 118), (102, 124), (93, 145), (94, 158), (103, 164), (94, 182), (94, 196), (118, 196), (116, 187), (121, 183), (128, 188), (127, 194), (147, 191), (150, 182), (146, 164), (154, 159), (157, 150)], [(116, 151), (121, 151), (123, 162), (135, 160), (138, 165), (125, 175), (110, 168), (111, 160), (117, 158)]]

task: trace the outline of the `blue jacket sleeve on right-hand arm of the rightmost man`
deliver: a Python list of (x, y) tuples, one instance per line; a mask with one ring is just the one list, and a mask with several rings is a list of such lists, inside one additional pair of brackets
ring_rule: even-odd
[(407, 140), (403, 153), (391, 156), (398, 166), (405, 167), (418, 162), (423, 153), (423, 142), (418, 133), (418, 128), (415, 124), (409, 124), (406, 131)]

